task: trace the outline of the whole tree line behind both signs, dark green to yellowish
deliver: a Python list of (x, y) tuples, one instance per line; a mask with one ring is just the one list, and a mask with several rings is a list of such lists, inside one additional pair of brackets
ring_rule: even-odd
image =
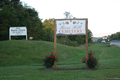
[[(10, 27), (27, 27), (27, 35), (33, 40), (54, 41), (54, 19), (44, 22), (38, 12), (29, 6), (23, 6), (20, 0), (0, 1), (0, 41), (9, 40)], [(92, 32), (88, 30), (88, 41), (92, 42)], [(25, 36), (12, 36), (12, 39), (25, 39)], [(85, 44), (85, 35), (57, 36), (57, 42), (77, 46)]]

